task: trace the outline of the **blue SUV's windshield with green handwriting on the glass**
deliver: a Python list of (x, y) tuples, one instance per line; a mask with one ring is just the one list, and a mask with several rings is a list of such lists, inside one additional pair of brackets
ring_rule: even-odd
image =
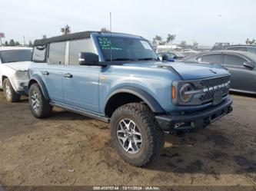
[(148, 41), (137, 38), (98, 37), (105, 61), (158, 60)]

